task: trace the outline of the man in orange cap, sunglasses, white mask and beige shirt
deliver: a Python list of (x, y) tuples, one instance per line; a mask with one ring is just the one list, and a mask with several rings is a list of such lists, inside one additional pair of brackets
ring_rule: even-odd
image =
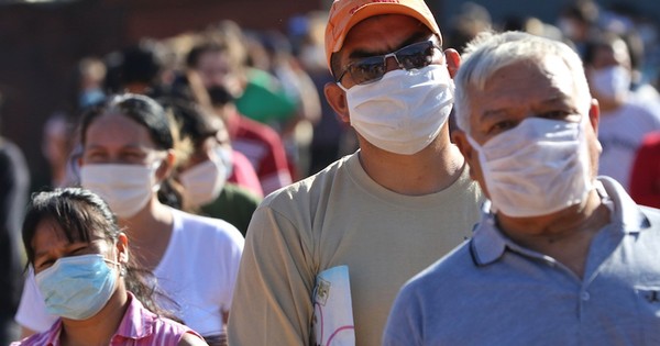
[(460, 56), (422, 0), (337, 0), (324, 88), (360, 149), (268, 196), (249, 226), (230, 345), (381, 345), (410, 277), (471, 236), (482, 193), (450, 142)]

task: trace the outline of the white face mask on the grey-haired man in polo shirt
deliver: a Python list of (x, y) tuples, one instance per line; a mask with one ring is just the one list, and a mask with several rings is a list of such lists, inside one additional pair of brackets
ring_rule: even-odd
[(468, 136), (493, 211), (530, 217), (581, 203), (593, 188), (586, 123), (528, 118), (483, 146)]

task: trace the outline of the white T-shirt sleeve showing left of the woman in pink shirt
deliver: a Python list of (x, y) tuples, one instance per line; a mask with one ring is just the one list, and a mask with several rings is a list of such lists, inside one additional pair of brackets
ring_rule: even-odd
[(21, 295), (21, 303), (19, 304), (15, 320), (21, 326), (37, 333), (48, 331), (53, 323), (57, 321), (57, 316), (46, 312), (46, 303), (36, 287), (32, 268), (30, 268), (25, 278), (23, 294)]

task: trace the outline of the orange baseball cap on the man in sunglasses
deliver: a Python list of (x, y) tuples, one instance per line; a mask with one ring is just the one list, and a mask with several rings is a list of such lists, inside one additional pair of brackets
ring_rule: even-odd
[(424, 0), (334, 0), (326, 26), (326, 57), (339, 52), (346, 33), (359, 22), (380, 14), (409, 15), (440, 36), (440, 27)]

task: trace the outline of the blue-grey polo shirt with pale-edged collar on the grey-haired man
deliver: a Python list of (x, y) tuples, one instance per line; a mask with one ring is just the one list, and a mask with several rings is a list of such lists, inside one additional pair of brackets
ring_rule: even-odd
[(384, 345), (660, 345), (660, 210), (598, 180), (612, 222), (583, 279), (484, 213), (471, 241), (404, 286)]

